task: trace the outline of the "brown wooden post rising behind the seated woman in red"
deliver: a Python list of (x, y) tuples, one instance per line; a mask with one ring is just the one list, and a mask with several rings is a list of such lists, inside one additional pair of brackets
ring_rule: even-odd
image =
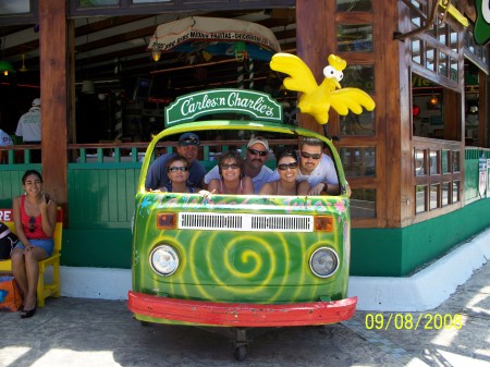
[(62, 207), (68, 204), (66, 7), (64, 0), (39, 0), (42, 176), (46, 192)]

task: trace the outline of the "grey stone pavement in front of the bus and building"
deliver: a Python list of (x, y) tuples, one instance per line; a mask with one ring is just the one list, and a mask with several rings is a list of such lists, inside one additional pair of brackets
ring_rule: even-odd
[(142, 326), (125, 302), (48, 298), (30, 319), (0, 313), (0, 367), (490, 367), (490, 262), (430, 311), (357, 311), (340, 325), (255, 331), (238, 363), (230, 339), (193, 327)]

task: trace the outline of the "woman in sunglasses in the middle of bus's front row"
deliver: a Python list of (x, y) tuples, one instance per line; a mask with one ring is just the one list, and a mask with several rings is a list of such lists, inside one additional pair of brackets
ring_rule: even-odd
[(252, 179), (244, 174), (245, 162), (237, 151), (226, 151), (218, 162), (220, 179), (209, 181), (208, 191), (200, 191), (201, 196), (209, 194), (254, 194)]

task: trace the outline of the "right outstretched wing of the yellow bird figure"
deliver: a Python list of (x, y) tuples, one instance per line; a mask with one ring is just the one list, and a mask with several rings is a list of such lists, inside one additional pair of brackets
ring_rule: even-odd
[(342, 88), (332, 91), (330, 103), (336, 113), (342, 115), (346, 115), (348, 110), (360, 114), (363, 113), (363, 107), (368, 111), (372, 111), (376, 106), (372, 98), (358, 88)]

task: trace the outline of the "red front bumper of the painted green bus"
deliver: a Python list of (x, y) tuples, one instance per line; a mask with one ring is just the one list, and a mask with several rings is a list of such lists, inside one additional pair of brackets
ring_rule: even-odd
[(158, 297), (130, 291), (128, 308), (136, 315), (175, 323), (217, 327), (293, 327), (348, 320), (357, 297), (283, 305), (216, 303)]

